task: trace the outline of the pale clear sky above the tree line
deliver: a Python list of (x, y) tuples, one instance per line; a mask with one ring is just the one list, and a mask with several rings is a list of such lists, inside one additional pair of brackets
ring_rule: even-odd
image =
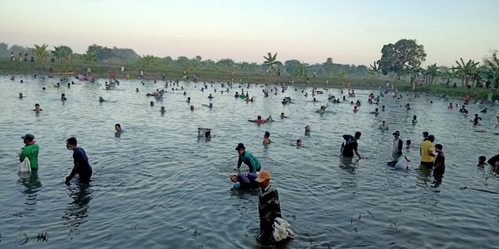
[(450, 66), (499, 49), (498, 13), (499, 0), (0, 0), (0, 42), (369, 65), (407, 38), (424, 45), (424, 65)]

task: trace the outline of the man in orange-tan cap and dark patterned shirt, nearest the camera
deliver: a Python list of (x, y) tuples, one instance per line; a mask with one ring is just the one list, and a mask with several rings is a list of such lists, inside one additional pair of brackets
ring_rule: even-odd
[(282, 218), (279, 204), (279, 193), (277, 189), (270, 186), (270, 172), (261, 171), (256, 178), (260, 184), (258, 193), (258, 215), (260, 217), (260, 234), (257, 240), (260, 243), (269, 242), (273, 239), (273, 224), (275, 218)]

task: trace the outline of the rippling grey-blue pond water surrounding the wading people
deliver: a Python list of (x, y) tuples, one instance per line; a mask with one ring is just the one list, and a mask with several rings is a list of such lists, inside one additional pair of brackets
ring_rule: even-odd
[[(404, 94), (398, 103), (387, 95), (381, 99), (386, 111), (375, 117), (369, 114), (375, 106), (367, 104), (372, 91), (358, 90), (356, 98), (347, 98), (363, 102), (357, 114), (350, 104), (331, 103), (321, 116), (315, 111), (327, 94), (342, 98), (340, 90), (329, 89), (313, 103), (311, 89), (290, 87), (264, 98), (260, 86), (251, 86), (255, 102), (246, 103), (234, 98), (241, 92), (237, 84), (222, 94), (220, 84), (201, 92), (202, 84), (181, 82), (195, 106), (191, 112), (183, 91), (171, 87), (150, 106), (154, 98), (145, 94), (163, 89), (164, 81), (123, 81), (106, 91), (104, 79), (59, 89), (52, 86), (57, 80), (0, 78), (1, 248), (258, 248), (257, 192), (234, 190), (229, 179), (239, 142), (272, 172), (283, 218), (297, 234), (278, 248), (498, 247), (499, 195), (460, 188), (499, 191), (496, 172), (476, 166), (478, 156), (499, 152), (497, 109), (481, 114), (482, 124), (474, 126), (469, 120), (478, 105), (470, 105), (465, 118), (435, 97)], [(20, 92), (24, 99), (17, 98)], [(215, 96), (211, 110), (202, 106), (209, 93)], [(99, 96), (107, 102), (99, 103)], [(284, 96), (295, 104), (283, 106)], [(399, 107), (406, 102), (412, 110)], [(32, 111), (35, 103), (43, 109), (39, 115)], [(281, 112), (288, 118), (279, 119)], [(275, 122), (248, 122), (257, 115), (272, 115)], [(381, 120), (389, 122), (388, 132), (377, 129)], [(125, 130), (119, 137), (116, 123)], [(213, 128), (211, 141), (198, 139), (198, 127)], [(404, 149), (413, 158), (408, 171), (387, 166), (395, 130), (414, 141), (415, 148)], [(271, 134), (268, 146), (262, 145), (265, 131)], [(367, 159), (344, 160), (342, 135), (355, 131), (362, 132), (359, 151)], [(418, 169), (423, 131), (444, 145), (441, 180)], [(26, 133), (40, 146), (39, 170), (23, 179), (15, 151)], [(71, 136), (90, 158), (89, 186), (64, 184), (72, 168), (72, 151), (65, 147)], [(35, 238), (41, 233), (48, 241)]]

